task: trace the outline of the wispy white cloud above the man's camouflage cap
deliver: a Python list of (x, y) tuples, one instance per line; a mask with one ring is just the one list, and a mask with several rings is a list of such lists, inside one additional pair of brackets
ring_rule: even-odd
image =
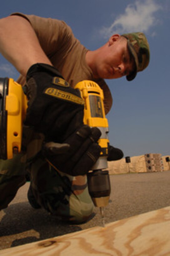
[(115, 33), (148, 32), (158, 22), (155, 13), (161, 8), (153, 0), (136, 1), (129, 4), (124, 14), (119, 15), (110, 27), (103, 27), (100, 33), (104, 37), (110, 37)]

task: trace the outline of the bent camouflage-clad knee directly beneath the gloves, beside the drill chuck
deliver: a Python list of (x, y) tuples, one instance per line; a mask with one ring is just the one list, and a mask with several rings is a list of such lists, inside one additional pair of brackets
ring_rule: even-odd
[(40, 158), (32, 164), (31, 186), (37, 203), (60, 219), (83, 222), (93, 212), (86, 176), (57, 172)]

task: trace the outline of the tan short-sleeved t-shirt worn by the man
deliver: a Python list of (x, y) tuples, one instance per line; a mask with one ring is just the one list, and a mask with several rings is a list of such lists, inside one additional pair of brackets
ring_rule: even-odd
[[(32, 25), (40, 45), (52, 64), (60, 71), (70, 86), (79, 81), (93, 80), (103, 89), (106, 114), (112, 106), (112, 96), (103, 79), (95, 80), (90, 67), (85, 61), (86, 49), (73, 35), (71, 28), (57, 19), (42, 18), (35, 15), (13, 13), (26, 18)], [(18, 83), (24, 85), (25, 77), (20, 76)]]

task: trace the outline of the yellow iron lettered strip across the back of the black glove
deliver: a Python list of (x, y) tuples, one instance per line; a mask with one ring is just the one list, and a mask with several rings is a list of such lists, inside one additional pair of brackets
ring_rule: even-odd
[(60, 91), (56, 88), (49, 87), (44, 91), (44, 93), (47, 95), (56, 97), (58, 99), (62, 99), (65, 101), (71, 101), (71, 102), (77, 103), (79, 105), (84, 105), (84, 101), (82, 98), (80, 98), (72, 93), (69, 93), (69, 92)]

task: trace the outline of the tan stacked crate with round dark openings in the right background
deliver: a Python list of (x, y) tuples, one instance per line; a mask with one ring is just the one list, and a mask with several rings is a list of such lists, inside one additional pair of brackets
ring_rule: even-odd
[(163, 171), (162, 154), (145, 154), (147, 172)]

